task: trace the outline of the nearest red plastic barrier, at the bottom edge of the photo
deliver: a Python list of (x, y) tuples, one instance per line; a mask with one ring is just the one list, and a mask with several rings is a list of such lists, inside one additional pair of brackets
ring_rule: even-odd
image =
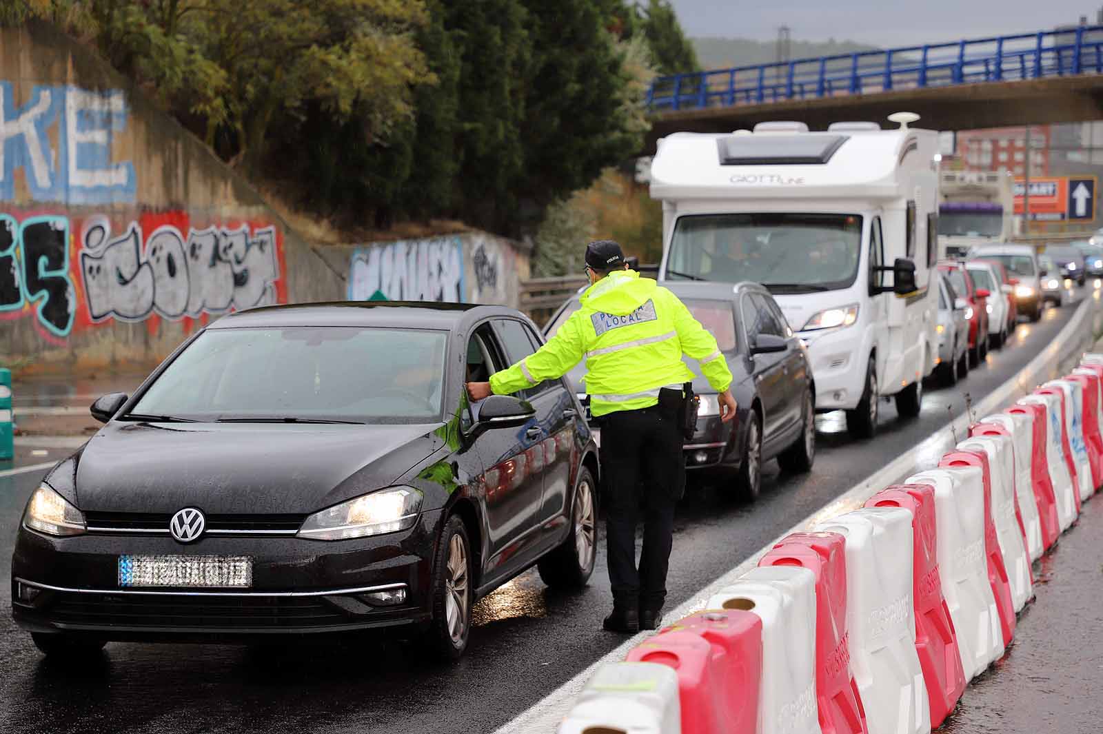
[(642, 643), (628, 659), (667, 665), (677, 672), (683, 734), (754, 731), (762, 674), (762, 620), (757, 614), (699, 612)]

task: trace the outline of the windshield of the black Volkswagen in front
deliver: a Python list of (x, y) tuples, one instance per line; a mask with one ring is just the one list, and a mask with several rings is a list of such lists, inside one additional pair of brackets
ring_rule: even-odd
[(165, 368), (130, 413), (199, 421), (437, 421), (447, 342), (439, 331), (213, 328)]

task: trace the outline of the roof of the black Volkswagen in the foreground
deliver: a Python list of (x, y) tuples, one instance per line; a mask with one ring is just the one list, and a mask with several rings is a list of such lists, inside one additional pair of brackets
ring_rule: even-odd
[[(473, 313), (475, 311), (480, 313)], [(208, 328), (247, 326), (389, 326), (451, 330), (468, 316), (517, 312), (506, 306), (426, 301), (334, 301), (260, 306), (227, 314)]]

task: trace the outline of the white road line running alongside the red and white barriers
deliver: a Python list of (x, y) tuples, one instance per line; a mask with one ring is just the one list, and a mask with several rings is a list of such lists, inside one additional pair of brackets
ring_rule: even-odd
[[(1020, 369), (1013, 378), (1000, 385), (986, 396), (979, 403), (973, 407), (974, 418), (982, 418), (1004, 408), (1008, 402), (1020, 396), (1029, 393), (1040, 382), (1057, 377), (1057, 368), (1060, 365), (1061, 348), (1069, 338), (1081, 328), (1090, 312), (1090, 300), (1084, 299), (1077, 313), (1068, 324), (1061, 328), (1057, 337), (1030, 363)], [(972, 421), (967, 415), (959, 415), (953, 421), (939, 429), (924, 441), (920, 442), (907, 453), (898, 456), (887, 466), (875, 472), (866, 479), (848, 489), (846, 493), (832, 500), (817, 511), (801, 520), (799, 523), (778, 536), (778, 538), (767, 546), (756, 551), (750, 558), (728, 571), (722, 576), (710, 583), (705, 589), (693, 594), (677, 608), (664, 613), (664, 617), (671, 622), (681, 619), (705, 608), (705, 602), (710, 596), (722, 590), (725, 586), (740, 579), (750, 569), (754, 568), (759, 559), (770, 550), (778, 540), (781, 540), (791, 532), (807, 530), (826, 519), (833, 518), (843, 512), (861, 507), (867, 499), (880, 492), (890, 484), (895, 484), (914, 474), (920, 468), (929, 468), (938, 463), (938, 460), (949, 449), (954, 445), (954, 440), (961, 441), (968, 435), (968, 425)], [(640, 633), (622, 643), (611, 652), (600, 660), (590, 665), (586, 670), (578, 673), (558, 689), (546, 695), (528, 711), (500, 727), (494, 734), (532, 734), (534, 732), (552, 734), (556, 731), (559, 721), (567, 714), (571, 702), (578, 697), (586, 686), (586, 681), (593, 676), (598, 667), (607, 663), (623, 660), (628, 651), (642, 643), (652, 632)]]

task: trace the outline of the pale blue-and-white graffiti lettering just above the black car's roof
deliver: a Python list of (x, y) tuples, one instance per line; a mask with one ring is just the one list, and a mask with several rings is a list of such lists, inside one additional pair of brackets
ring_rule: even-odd
[(349, 299), (464, 301), (463, 249), (457, 237), (356, 248)]

